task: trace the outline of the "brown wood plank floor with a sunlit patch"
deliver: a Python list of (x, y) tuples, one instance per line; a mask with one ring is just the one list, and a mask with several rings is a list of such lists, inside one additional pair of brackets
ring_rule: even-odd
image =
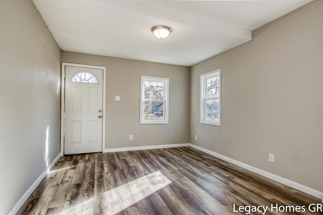
[(310, 212), (312, 203), (320, 199), (182, 147), (64, 156), (17, 214), (263, 214), (234, 211), (253, 205), (323, 214)]

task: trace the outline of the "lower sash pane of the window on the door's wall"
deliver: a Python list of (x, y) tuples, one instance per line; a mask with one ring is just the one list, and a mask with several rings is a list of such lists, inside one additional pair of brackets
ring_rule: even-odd
[(164, 120), (164, 104), (165, 101), (152, 102), (145, 101), (143, 103), (144, 119), (161, 119)]

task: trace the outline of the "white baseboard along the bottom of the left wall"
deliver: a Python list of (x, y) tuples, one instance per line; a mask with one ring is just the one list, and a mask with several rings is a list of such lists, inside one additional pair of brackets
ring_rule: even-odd
[(51, 170), (51, 168), (56, 164), (56, 162), (60, 158), (61, 158), (61, 153), (50, 163), (49, 167), (46, 168), (46, 170), (43, 173), (41, 173), (41, 175), (36, 179), (36, 181), (34, 181), (34, 183), (20, 197), (20, 199), (17, 201), (15, 206), (10, 210), (8, 215), (14, 215), (19, 211), (19, 209), (25, 203), (25, 201), (28, 199), (28, 197), (31, 195), (31, 193), (37, 188), (37, 186), (40, 184), (40, 182), (46, 177), (47, 173)]

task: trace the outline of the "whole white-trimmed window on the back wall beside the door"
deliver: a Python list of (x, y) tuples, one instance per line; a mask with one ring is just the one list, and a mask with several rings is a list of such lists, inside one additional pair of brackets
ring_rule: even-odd
[(169, 79), (141, 76), (140, 124), (168, 124)]

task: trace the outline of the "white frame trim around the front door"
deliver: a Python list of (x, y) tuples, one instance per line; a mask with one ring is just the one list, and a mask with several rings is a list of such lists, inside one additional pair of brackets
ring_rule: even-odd
[(105, 91), (106, 91), (106, 67), (85, 65), (77, 63), (62, 62), (62, 77), (61, 77), (61, 156), (64, 156), (64, 116), (65, 116), (65, 66), (83, 67), (83, 68), (96, 68), (103, 70), (103, 109), (102, 109), (102, 153), (105, 150)]

